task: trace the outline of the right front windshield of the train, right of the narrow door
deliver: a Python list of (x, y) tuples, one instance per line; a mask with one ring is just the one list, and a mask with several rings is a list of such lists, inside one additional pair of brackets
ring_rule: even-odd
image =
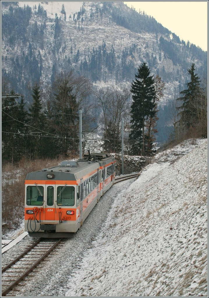
[(57, 205), (74, 206), (75, 204), (75, 187), (58, 186), (57, 187)]

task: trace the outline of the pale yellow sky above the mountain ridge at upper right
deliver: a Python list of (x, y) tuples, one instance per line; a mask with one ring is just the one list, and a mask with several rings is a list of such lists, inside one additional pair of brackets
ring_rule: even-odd
[(208, 49), (208, 1), (124, 1), (153, 16), (180, 40)]

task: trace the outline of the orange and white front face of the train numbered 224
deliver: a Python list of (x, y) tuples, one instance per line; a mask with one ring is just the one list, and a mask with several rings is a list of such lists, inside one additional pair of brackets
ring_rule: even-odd
[(76, 181), (66, 181), (65, 184), (56, 184), (60, 181), (38, 182), (27, 184), (26, 181), (25, 231), (34, 237), (48, 237), (55, 233), (69, 237), (69, 232), (76, 232), (80, 218), (82, 220), (80, 185)]

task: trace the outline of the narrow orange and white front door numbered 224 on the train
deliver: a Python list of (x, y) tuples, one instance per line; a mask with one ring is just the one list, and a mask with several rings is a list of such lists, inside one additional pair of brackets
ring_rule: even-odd
[[(48, 181), (47, 181), (48, 182)], [(45, 187), (45, 200), (43, 202), (43, 207), (45, 207), (45, 220), (55, 220), (55, 181), (52, 184), (46, 184)], [(38, 219), (38, 215), (37, 215)]]

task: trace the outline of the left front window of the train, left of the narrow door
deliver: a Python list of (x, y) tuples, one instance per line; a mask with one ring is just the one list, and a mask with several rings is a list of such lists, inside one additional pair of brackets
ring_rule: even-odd
[(29, 206), (42, 206), (44, 201), (44, 187), (43, 186), (27, 186), (26, 189), (26, 203)]

